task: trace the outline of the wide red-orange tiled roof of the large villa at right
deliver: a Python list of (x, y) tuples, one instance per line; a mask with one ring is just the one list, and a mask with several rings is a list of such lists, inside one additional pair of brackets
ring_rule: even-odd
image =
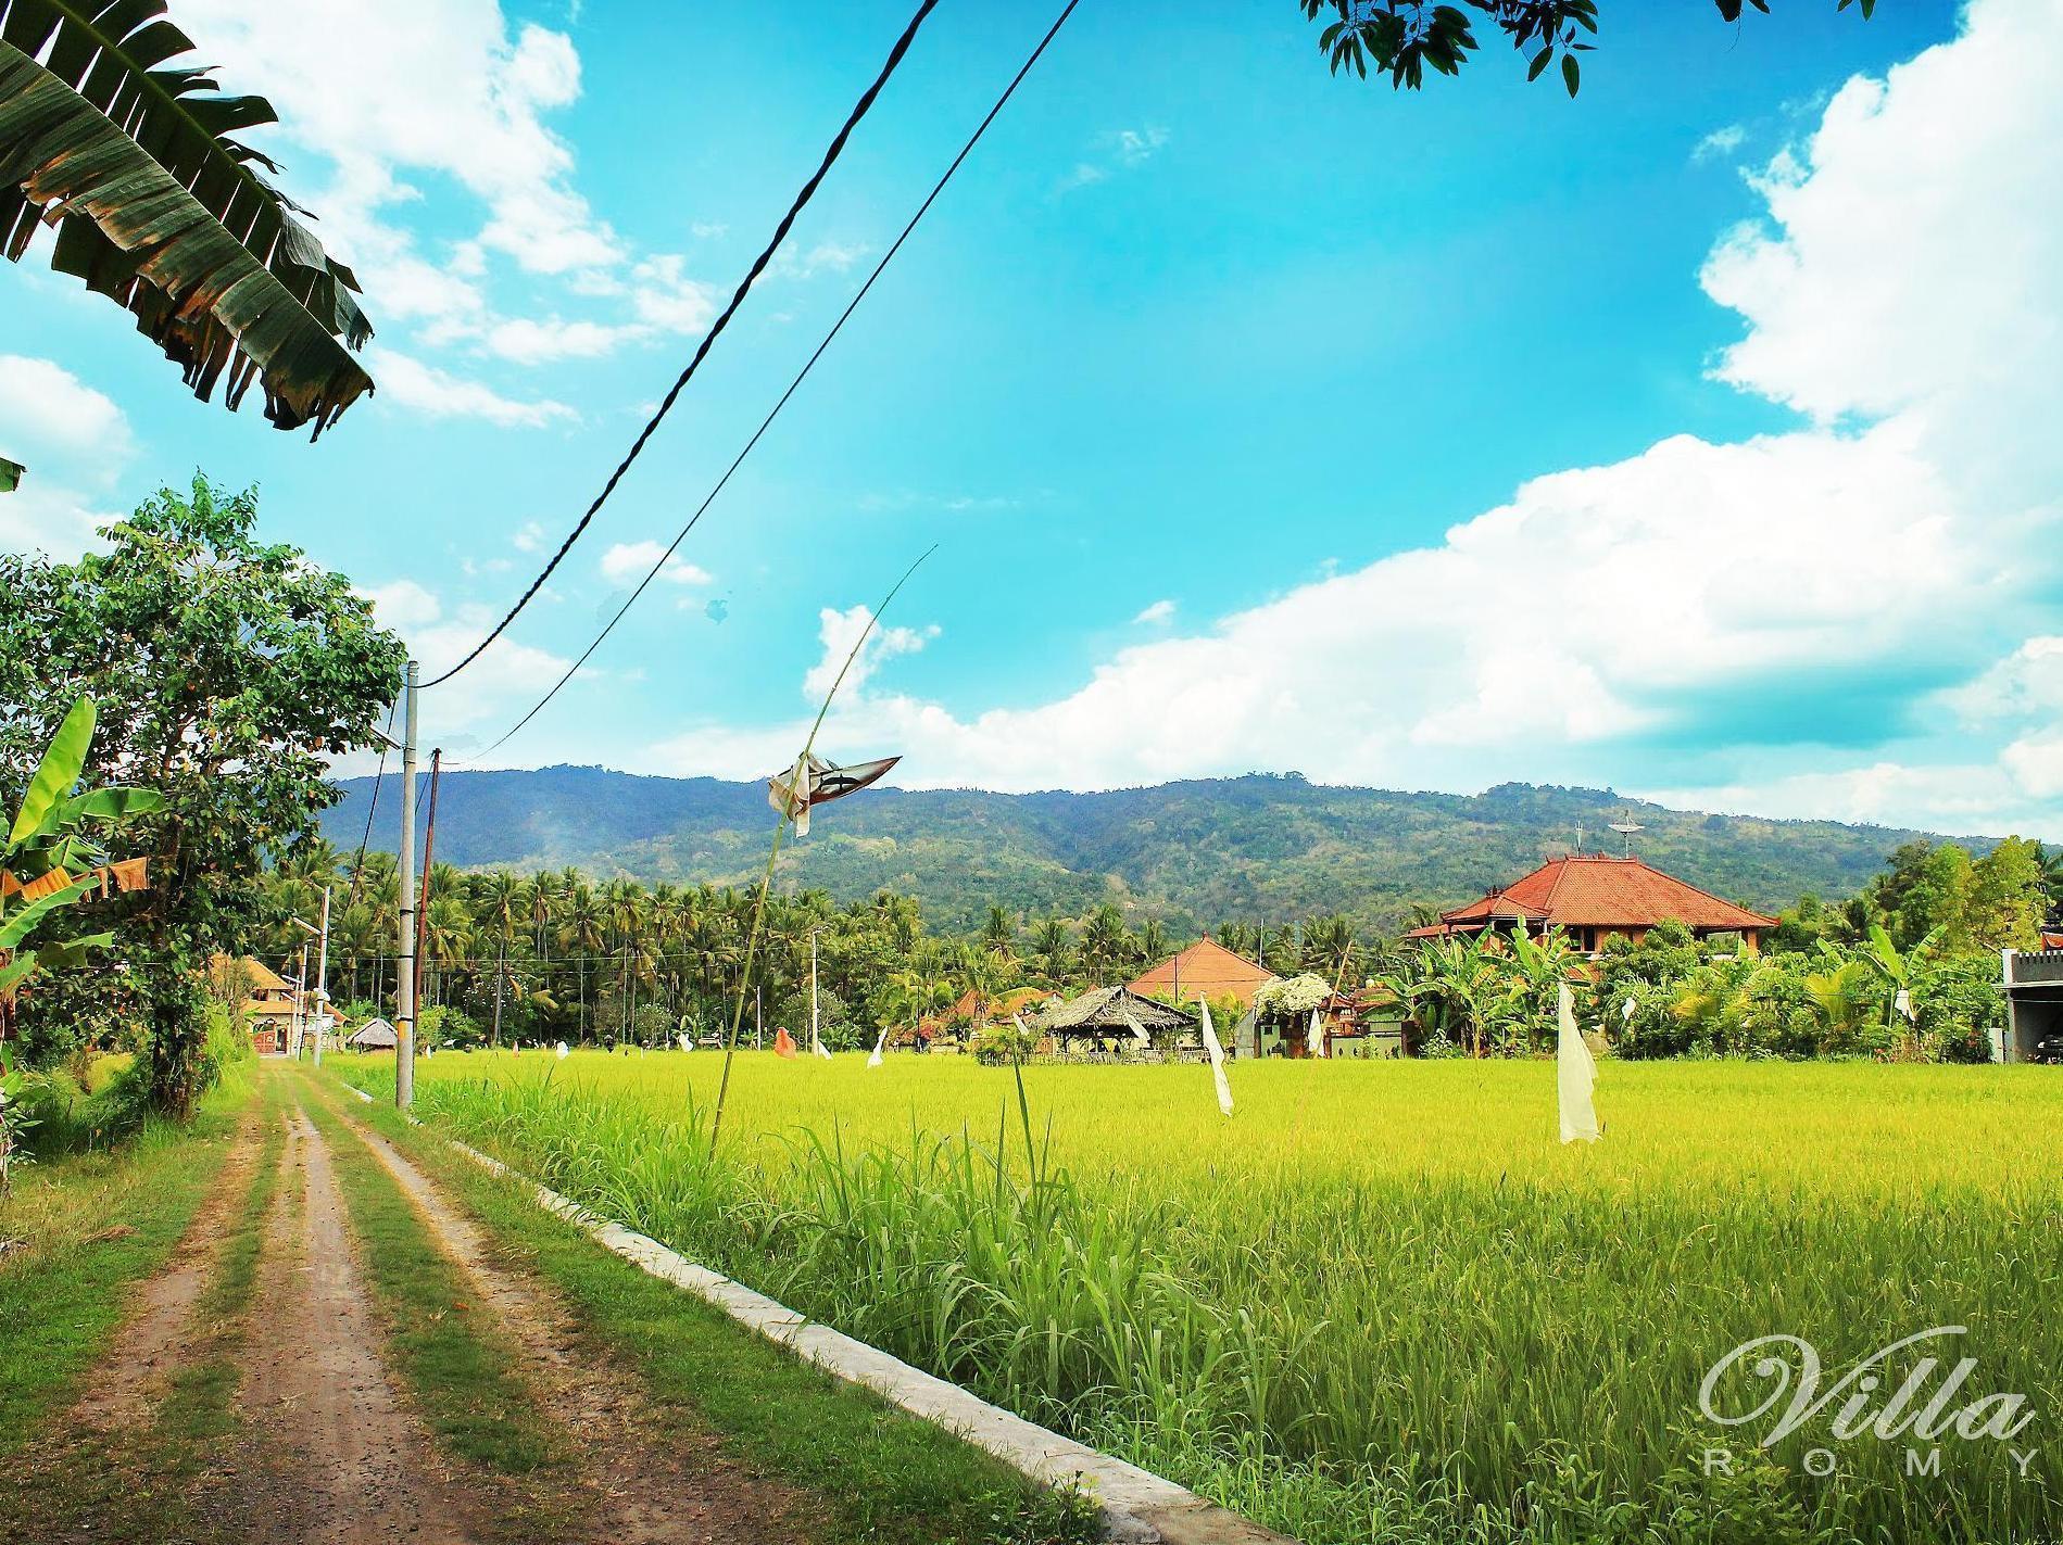
[(1440, 922), (1413, 928), (1405, 939), (1560, 928), (1572, 945), (1595, 955), (1615, 936), (1638, 945), (1659, 922), (1681, 922), (1696, 939), (1739, 934), (1743, 955), (1762, 953), (1764, 930), (1776, 926), (1776, 918), (1723, 901), (1640, 858), (1574, 854), (1549, 858), (1522, 881), (1442, 912)]

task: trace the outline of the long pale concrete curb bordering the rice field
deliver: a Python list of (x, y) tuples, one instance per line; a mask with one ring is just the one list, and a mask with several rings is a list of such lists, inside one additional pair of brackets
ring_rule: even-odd
[[(345, 1087), (371, 1104), (371, 1095), (363, 1089), (349, 1083)], [(891, 1405), (945, 1427), (1042, 1485), (1087, 1493), (1102, 1510), (1104, 1531), (1114, 1541), (1124, 1541), (1124, 1545), (1296, 1545), (1287, 1535), (1263, 1528), (1174, 1481), (1011, 1415), (957, 1384), (947, 1384), (879, 1347), (869, 1347), (827, 1324), (817, 1324), (784, 1304), (776, 1304), (765, 1293), (755, 1293), (708, 1267), (697, 1267), (658, 1240), (590, 1213), (569, 1196), (538, 1186), (479, 1149), (456, 1139), (446, 1139), (446, 1143), (483, 1170), (528, 1186), (541, 1207), (586, 1229), (604, 1248), (637, 1269), (714, 1304), (767, 1341), (788, 1347), (798, 1357), (850, 1384), (864, 1384)]]

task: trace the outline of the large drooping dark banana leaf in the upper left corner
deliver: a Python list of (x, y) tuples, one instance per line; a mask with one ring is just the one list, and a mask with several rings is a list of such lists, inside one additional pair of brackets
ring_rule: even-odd
[(334, 262), (229, 138), (276, 122), (184, 62), (165, 0), (0, 0), (0, 250), (19, 262), (43, 225), (52, 268), (136, 318), (208, 400), (256, 380), (279, 429), (320, 435), (371, 377), (357, 278)]

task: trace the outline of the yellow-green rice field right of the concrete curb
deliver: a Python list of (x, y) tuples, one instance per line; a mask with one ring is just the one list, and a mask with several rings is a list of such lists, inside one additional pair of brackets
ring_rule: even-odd
[[(2063, 1537), (2055, 1071), (1607, 1062), (1562, 1147), (1551, 1062), (1234, 1064), (1227, 1120), (1199, 1066), (741, 1054), (712, 1163), (720, 1062), (446, 1054), (417, 1108), (1314, 1545)], [(1702, 1386), (1778, 1335), (1834, 1392), (1764, 1446), (1797, 1343)]]

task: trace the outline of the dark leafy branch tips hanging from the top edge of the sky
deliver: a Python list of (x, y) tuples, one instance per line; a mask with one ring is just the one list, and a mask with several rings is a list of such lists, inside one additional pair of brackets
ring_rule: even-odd
[[(1417, 91), (1426, 83), (1426, 70), (1434, 74), (1461, 74), (1461, 68), (1481, 47), (1475, 37), (1469, 10), (1485, 17), (1512, 50), (1527, 60), (1527, 80), (1541, 74), (1560, 58), (1558, 76), (1574, 97), (1582, 85), (1578, 54), (1593, 50), (1597, 35), (1597, 0), (1463, 0), (1461, 4), (1438, 4), (1436, 0), (1298, 0), (1310, 21), (1327, 19), (1318, 35), (1318, 50), (1333, 66), (1333, 74), (1353, 70), (1368, 78), (1370, 66), (1376, 74), (1390, 76), (1390, 87)], [(1725, 21), (1741, 19), (1743, 0), (1714, 0)], [(1768, 14), (1768, 0), (1745, 0), (1745, 4)], [(1875, 10), (1875, 0), (1836, 0), (1836, 10), (1857, 6), (1865, 19)]]

